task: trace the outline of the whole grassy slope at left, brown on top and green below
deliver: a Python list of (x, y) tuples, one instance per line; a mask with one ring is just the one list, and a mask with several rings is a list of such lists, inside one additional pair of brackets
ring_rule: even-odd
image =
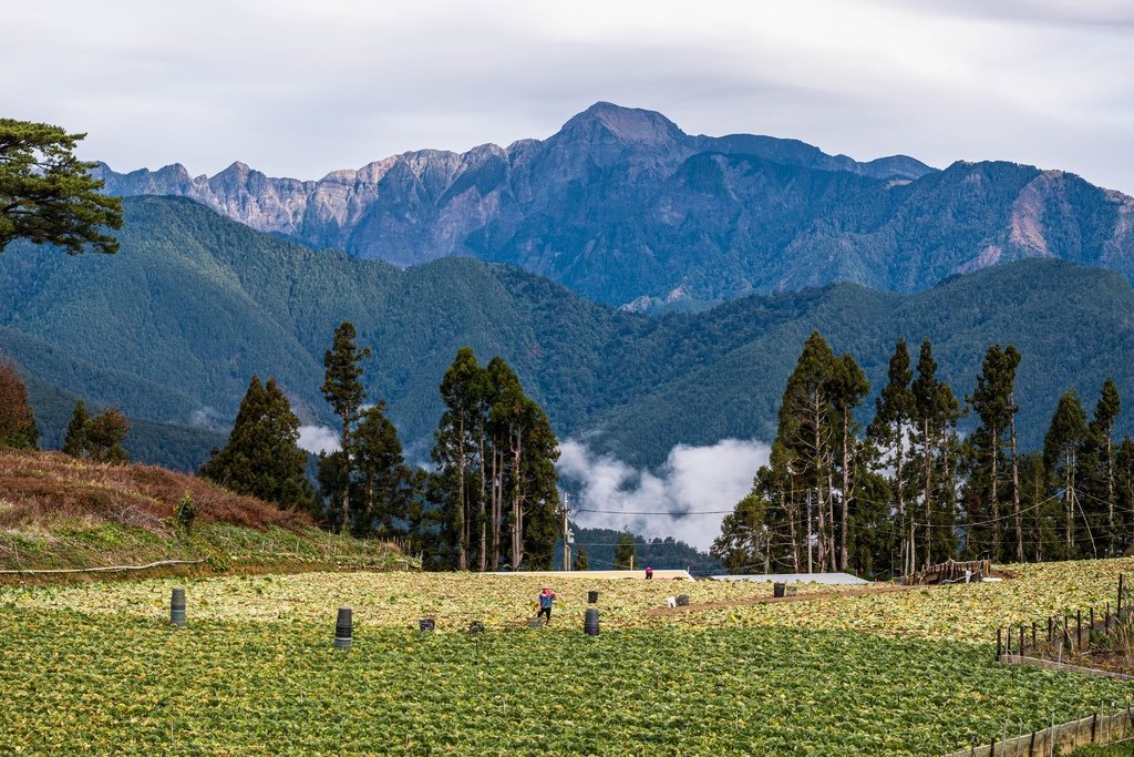
[[(188, 493), (189, 533), (174, 525)], [(0, 448), (0, 569), (43, 570), (204, 560), (194, 571), (380, 566), (388, 547), (342, 539), (302, 513), (153, 465), (105, 465)], [(8, 581), (17, 580), (7, 575)]]

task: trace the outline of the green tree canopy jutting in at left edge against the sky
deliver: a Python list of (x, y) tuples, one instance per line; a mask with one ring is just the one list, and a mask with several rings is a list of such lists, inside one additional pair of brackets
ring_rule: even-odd
[(54, 244), (70, 254), (88, 245), (118, 251), (102, 229), (122, 226), (121, 197), (100, 194), (91, 176), (98, 163), (78, 160), (85, 134), (58, 126), (0, 118), (0, 252), (15, 239)]

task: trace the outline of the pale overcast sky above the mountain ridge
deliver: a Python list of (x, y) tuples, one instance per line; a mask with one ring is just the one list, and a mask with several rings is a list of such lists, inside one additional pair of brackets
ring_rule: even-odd
[(1129, 0), (6, 3), (0, 116), (117, 170), (318, 178), (547, 137), (598, 100), (860, 160), (1005, 159), (1134, 194)]

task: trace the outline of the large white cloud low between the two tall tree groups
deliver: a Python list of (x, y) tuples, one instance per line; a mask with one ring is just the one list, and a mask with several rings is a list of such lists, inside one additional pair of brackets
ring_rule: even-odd
[(709, 549), (720, 533), (723, 511), (731, 511), (748, 493), (769, 453), (767, 444), (755, 440), (721, 439), (709, 447), (679, 444), (652, 472), (596, 455), (568, 439), (560, 445), (557, 469), (561, 482), (578, 491), (574, 510), (601, 511), (581, 512), (575, 519), (579, 525), (628, 528), (645, 537), (671, 536)]

